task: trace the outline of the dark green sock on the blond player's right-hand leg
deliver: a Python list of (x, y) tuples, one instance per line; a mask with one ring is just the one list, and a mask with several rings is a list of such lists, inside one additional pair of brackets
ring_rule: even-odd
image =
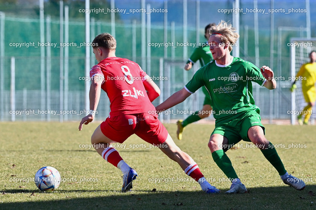
[(276, 152), (276, 148), (273, 146), (273, 144), (271, 144), (271, 142), (269, 144), (268, 149), (261, 150), (261, 152), (266, 157), (266, 159), (273, 165), (273, 167), (276, 168), (276, 171), (280, 176), (286, 173), (284, 165)]

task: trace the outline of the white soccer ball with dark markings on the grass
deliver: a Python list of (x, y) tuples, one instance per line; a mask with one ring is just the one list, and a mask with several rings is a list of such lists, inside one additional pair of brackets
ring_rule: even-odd
[(35, 174), (35, 184), (43, 191), (53, 191), (60, 184), (60, 174), (57, 169), (45, 166)]

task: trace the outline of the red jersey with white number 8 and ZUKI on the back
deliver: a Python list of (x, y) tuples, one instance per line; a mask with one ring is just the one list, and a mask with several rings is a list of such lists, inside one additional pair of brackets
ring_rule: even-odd
[(110, 99), (110, 116), (156, 110), (143, 85), (147, 74), (137, 63), (117, 57), (106, 58), (91, 68), (90, 77), (94, 75), (104, 77), (101, 88)]

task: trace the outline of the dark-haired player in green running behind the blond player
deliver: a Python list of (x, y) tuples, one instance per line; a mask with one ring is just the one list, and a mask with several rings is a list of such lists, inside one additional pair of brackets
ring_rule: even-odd
[[(204, 37), (206, 40), (208, 40), (210, 34), (209, 30), (211, 29), (212, 26), (215, 26), (215, 23), (210, 23), (207, 26), (205, 26), (205, 31), (204, 31)], [(200, 46), (198, 46), (193, 54), (191, 55), (190, 59), (188, 60), (187, 64), (184, 66), (185, 70), (190, 70), (192, 68), (192, 65), (199, 60), (199, 63), (201, 64), (201, 67), (204, 66), (205, 64), (209, 63), (211, 60), (213, 60), (212, 53), (209, 50), (208, 43), (202, 43)], [(190, 115), (187, 119), (185, 120), (178, 120), (177, 125), (178, 125), (178, 130), (177, 130), (177, 138), (179, 140), (182, 139), (182, 131), (184, 130), (184, 127), (187, 126), (188, 124), (192, 122), (196, 122), (198, 120), (201, 120), (203, 118), (207, 118), (210, 116), (211, 111), (212, 111), (212, 101), (209, 96), (209, 93), (207, 92), (205, 87), (202, 87), (203, 93), (205, 95), (204, 102), (203, 102), (203, 108), (199, 112), (195, 112), (192, 115)]]

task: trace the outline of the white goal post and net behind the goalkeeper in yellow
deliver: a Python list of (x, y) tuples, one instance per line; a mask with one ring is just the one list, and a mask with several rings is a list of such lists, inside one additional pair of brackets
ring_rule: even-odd
[[(297, 72), (300, 70), (302, 64), (309, 62), (309, 53), (311, 51), (316, 51), (316, 37), (312, 38), (296, 38), (290, 39), (289, 46), (290, 50), (290, 60), (291, 60), (291, 78), (294, 78)], [(294, 80), (291, 80), (291, 83)], [(291, 93), (291, 110), (299, 111), (302, 110), (306, 105), (304, 96), (301, 89), (301, 82), (296, 82), (297, 89)], [(305, 105), (304, 105), (305, 104)], [(314, 113), (314, 112), (313, 112)], [(315, 115), (312, 114), (311, 120), (314, 123)], [(291, 115), (291, 124), (294, 125), (297, 115)]]

